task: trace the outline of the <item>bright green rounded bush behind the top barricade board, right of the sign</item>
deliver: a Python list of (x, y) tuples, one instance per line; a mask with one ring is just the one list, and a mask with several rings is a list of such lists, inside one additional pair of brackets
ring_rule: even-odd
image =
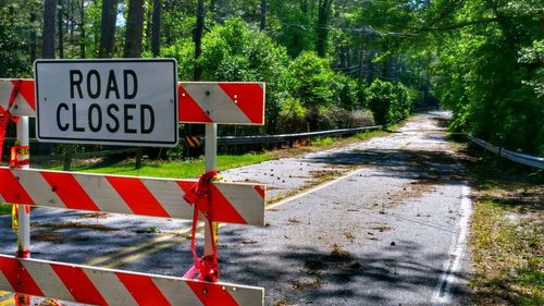
[[(195, 66), (195, 45), (190, 39), (180, 39), (161, 56), (177, 60), (180, 78), (191, 79)], [(202, 54), (198, 59), (203, 81), (265, 82), (267, 130), (273, 133), (284, 89), (284, 74), (288, 57), (284, 47), (276, 45), (267, 35), (246, 26), (239, 19), (227, 20), (217, 25), (202, 38)]]

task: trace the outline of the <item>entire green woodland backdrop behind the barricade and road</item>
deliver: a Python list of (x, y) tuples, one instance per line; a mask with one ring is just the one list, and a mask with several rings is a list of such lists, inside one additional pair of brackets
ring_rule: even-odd
[[(176, 58), (184, 81), (267, 82), (265, 133), (344, 127), (354, 121), (330, 119), (368, 111), (385, 123), (440, 103), (454, 112), (453, 132), (544, 155), (541, 0), (57, 4), (57, 57), (141, 48), (143, 57)], [(46, 56), (45, 9), (0, 0), (1, 77), (30, 76), (32, 61)]]

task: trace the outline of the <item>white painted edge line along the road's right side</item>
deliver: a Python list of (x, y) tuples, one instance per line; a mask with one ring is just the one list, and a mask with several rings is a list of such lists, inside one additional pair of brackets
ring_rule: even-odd
[(447, 305), (452, 298), (453, 284), (460, 283), (456, 274), (459, 271), (461, 258), (465, 254), (467, 238), (470, 230), (470, 217), (472, 215), (472, 201), (470, 200), (470, 187), (468, 182), (463, 183), (461, 189), (461, 218), (459, 219), (459, 235), (454, 238), (449, 246), (448, 259), (444, 264), (444, 270), (436, 287), (434, 289), (433, 305)]

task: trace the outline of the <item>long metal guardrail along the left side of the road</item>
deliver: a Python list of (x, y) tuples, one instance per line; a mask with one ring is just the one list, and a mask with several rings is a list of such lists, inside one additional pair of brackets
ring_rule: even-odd
[(373, 125), (356, 128), (341, 128), (297, 134), (261, 135), (261, 136), (221, 136), (218, 137), (218, 145), (255, 145), (255, 144), (277, 144), (293, 140), (300, 140), (311, 137), (341, 136), (345, 134), (356, 134), (368, 131), (382, 130), (384, 125)]

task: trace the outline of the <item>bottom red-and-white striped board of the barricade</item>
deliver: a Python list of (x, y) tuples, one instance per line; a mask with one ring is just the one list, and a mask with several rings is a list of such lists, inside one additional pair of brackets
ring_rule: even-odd
[(262, 305), (262, 287), (0, 255), (0, 290), (92, 305)]

